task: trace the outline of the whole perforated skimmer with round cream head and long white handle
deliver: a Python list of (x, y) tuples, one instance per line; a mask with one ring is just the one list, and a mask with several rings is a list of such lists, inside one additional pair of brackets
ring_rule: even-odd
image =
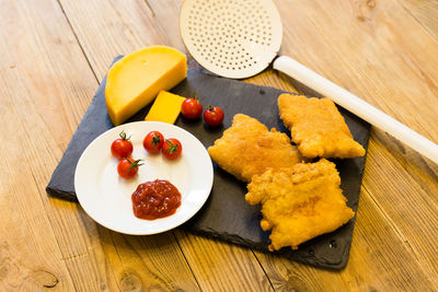
[[(280, 15), (270, 0), (185, 0), (180, 30), (200, 66), (234, 79), (255, 75), (268, 67), (283, 36)], [(278, 57), (273, 67), (438, 163), (437, 144), (343, 87), (286, 56)]]

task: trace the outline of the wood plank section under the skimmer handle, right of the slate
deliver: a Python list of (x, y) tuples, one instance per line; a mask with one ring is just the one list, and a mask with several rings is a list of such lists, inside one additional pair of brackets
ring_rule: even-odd
[[(369, 147), (364, 186), (372, 194), (377, 207), (383, 210), (382, 213), (404, 241), (406, 248), (411, 249), (428, 278), (438, 287), (438, 166), (427, 167), (412, 150), (406, 152), (413, 160), (397, 160), (400, 144), (391, 141), (388, 135), (374, 132)], [(391, 174), (391, 179), (380, 175), (382, 165)], [(403, 172), (397, 171), (400, 168)]]

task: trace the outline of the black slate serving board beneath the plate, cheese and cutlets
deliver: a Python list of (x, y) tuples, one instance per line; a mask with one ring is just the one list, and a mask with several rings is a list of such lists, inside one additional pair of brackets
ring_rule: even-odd
[[(51, 196), (77, 201), (74, 194), (74, 170), (84, 149), (97, 136), (113, 127), (106, 112), (105, 79), (101, 83), (66, 153), (55, 170), (47, 186)], [(187, 79), (172, 90), (183, 96), (198, 93), (204, 105), (222, 107), (226, 113), (223, 126), (211, 129), (201, 119), (187, 120), (180, 116), (175, 125), (196, 136), (209, 147), (231, 126), (234, 114), (242, 113), (257, 118), (268, 128), (290, 135), (278, 117), (277, 97), (284, 93), (277, 89), (217, 78), (188, 71)], [(140, 110), (129, 121), (142, 120), (150, 106)], [(339, 108), (355, 138), (365, 149), (368, 147), (370, 126), (353, 114)], [(357, 210), (365, 157), (333, 160), (341, 173), (342, 189), (348, 206)], [(267, 252), (269, 232), (260, 227), (258, 206), (250, 206), (244, 199), (246, 185), (219, 168), (215, 163), (215, 180), (209, 199), (203, 209), (182, 227), (229, 243)], [(355, 219), (333, 233), (321, 235), (299, 246), (298, 250), (283, 248), (275, 254), (321, 268), (342, 269), (348, 260)]]

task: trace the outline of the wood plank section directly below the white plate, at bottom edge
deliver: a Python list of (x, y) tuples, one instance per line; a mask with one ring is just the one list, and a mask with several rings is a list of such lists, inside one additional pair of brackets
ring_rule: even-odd
[[(193, 275), (185, 271), (184, 255), (175, 242), (169, 240), (173, 238), (170, 232), (154, 236), (130, 236), (99, 227), (99, 234), (106, 265), (118, 279), (118, 290), (199, 290)], [(183, 277), (188, 279), (183, 281)]]

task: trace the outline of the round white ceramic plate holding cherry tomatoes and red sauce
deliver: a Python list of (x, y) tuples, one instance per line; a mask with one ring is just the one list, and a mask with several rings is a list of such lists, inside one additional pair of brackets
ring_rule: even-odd
[[(117, 174), (118, 161), (111, 154), (112, 142), (124, 130), (131, 137), (132, 159), (145, 160), (131, 179)], [(166, 160), (149, 154), (142, 140), (150, 131), (176, 138), (183, 145), (181, 157)], [(125, 234), (155, 234), (174, 229), (191, 219), (205, 203), (212, 186), (212, 164), (207, 150), (192, 133), (174, 125), (137, 121), (115, 127), (97, 137), (82, 153), (74, 174), (78, 200), (101, 225)], [(142, 220), (134, 215), (131, 195), (137, 186), (157, 178), (171, 182), (181, 192), (181, 206), (170, 217)]]

